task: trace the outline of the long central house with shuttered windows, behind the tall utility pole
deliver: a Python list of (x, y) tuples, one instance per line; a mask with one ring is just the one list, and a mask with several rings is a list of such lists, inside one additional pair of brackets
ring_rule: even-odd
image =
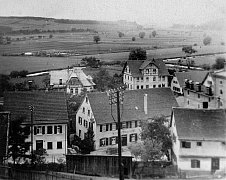
[[(122, 146), (140, 140), (141, 121), (155, 116), (170, 119), (171, 108), (177, 106), (170, 88), (125, 91), (121, 105)], [(92, 127), (95, 149), (107, 150), (117, 146), (116, 122), (116, 105), (109, 105), (107, 93), (88, 93), (76, 113), (76, 135), (83, 139), (88, 127)]]

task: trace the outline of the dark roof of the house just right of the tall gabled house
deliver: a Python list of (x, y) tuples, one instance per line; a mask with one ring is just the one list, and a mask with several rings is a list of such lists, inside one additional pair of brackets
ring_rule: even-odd
[(208, 71), (190, 71), (190, 72), (176, 72), (175, 76), (181, 87), (184, 86), (184, 80), (192, 80), (194, 82), (203, 83)]

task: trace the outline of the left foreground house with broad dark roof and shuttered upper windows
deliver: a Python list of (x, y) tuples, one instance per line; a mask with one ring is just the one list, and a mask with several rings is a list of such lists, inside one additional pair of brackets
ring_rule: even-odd
[(7, 92), (4, 95), (4, 110), (11, 113), (11, 121), (19, 116), (25, 117), (23, 125), (30, 126), (33, 121), (33, 136), (27, 139), (32, 141), (33, 137), (33, 150), (46, 149), (49, 162), (65, 158), (68, 123), (65, 93)]

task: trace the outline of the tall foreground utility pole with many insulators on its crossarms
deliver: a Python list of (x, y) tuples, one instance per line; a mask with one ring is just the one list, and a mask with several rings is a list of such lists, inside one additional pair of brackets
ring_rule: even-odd
[[(118, 127), (118, 168), (119, 168), (119, 180), (124, 180), (124, 172), (122, 166), (122, 141), (121, 141), (121, 115), (120, 115), (120, 103), (123, 102), (125, 87), (110, 90), (108, 93), (109, 104), (117, 105), (117, 127)], [(113, 115), (112, 115), (113, 117)], [(114, 117), (113, 117), (114, 118)]]

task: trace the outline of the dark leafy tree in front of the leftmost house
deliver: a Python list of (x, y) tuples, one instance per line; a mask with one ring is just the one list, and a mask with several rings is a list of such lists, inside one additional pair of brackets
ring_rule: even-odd
[(24, 158), (30, 148), (30, 142), (26, 141), (30, 135), (30, 127), (21, 125), (24, 119), (25, 117), (19, 117), (10, 122), (8, 155), (14, 164)]

